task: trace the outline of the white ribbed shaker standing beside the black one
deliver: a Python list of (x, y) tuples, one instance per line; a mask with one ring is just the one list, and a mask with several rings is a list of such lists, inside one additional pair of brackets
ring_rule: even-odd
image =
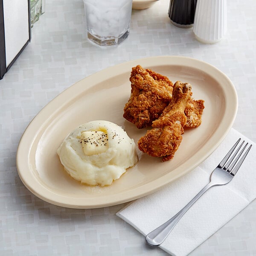
[(198, 41), (213, 44), (227, 32), (226, 0), (198, 0), (193, 32)]

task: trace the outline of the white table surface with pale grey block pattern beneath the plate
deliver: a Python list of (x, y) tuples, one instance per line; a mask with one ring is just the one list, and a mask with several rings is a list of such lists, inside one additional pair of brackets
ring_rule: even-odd
[[(47, 0), (32, 41), (0, 81), (0, 255), (166, 255), (116, 217), (125, 206), (67, 209), (26, 189), (15, 155), (32, 118), (50, 100), (96, 71), (154, 55), (183, 55), (213, 64), (233, 81), (239, 109), (233, 127), (256, 142), (256, 1), (227, 0), (227, 35), (196, 41), (170, 23), (169, 0), (133, 11), (128, 40), (100, 49), (87, 42), (82, 0)], [(256, 255), (256, 201), (195, 249), (197, 255)]]

